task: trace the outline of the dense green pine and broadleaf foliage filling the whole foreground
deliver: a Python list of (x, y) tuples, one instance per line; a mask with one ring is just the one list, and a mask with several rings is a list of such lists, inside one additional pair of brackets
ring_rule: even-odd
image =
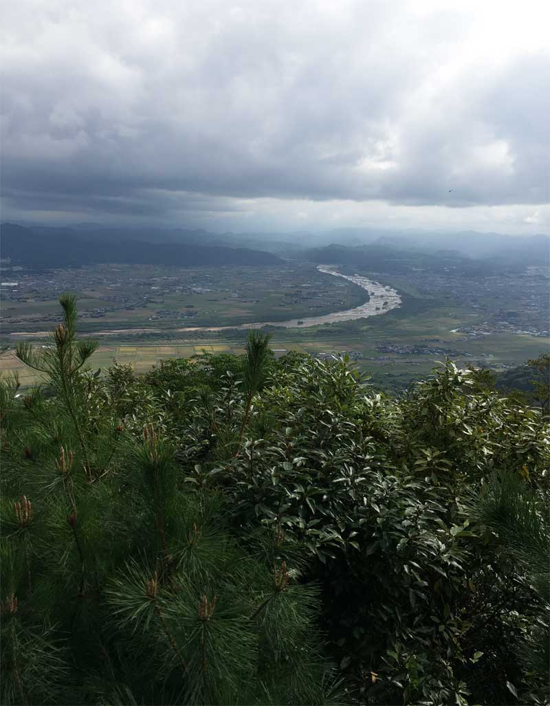
[(75, 303), (1, 384), (2, 703), (545, 703), (549, 435), (448, 362), (85, 369)]

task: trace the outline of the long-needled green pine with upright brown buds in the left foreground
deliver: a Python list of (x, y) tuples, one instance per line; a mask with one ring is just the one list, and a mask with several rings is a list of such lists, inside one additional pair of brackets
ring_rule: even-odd
[(83, 371), (95, 342), (76, 337), (73, 297), (61, 306), (51, 347), (18, 346), (55, 394), (2, 388), (1, 702), (337, 702), (296, 551), (236, 532), (162, 421), (116, 419), (121, 376)]

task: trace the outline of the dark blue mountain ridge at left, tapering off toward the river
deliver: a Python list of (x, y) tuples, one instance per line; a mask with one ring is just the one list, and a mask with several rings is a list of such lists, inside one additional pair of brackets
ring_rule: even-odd
[[(68, 228), (0, 226), (0, 256), (29, 267), (68, 267), (93, 263), (149, 265), (277, 265), (272, 253), (228, 247), (199, 237), (185, 242), (162, 242), (150, 232), (150, 241), (121, 237), (121, 232)], [(202, 244), (198, 244), (201, 241)]]

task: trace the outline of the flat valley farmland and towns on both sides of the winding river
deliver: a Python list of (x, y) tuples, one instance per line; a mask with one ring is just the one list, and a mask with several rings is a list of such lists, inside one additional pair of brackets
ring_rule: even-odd
[[(35, 275), (29, 275), (28, 291), (11, 292), (3, 304), (2, 342), (8, 350), (0, 355), (0, 371), (16, 371), (25, 386), (37, 382), (35, 373), (16, 359), (13, 345), (21, 337), (46, 345), (46, 333), (59, 321), (56, 297), (77, 280), (79, 330), (97, 333), (100, 342), (92, 368), (104, 370), (116, 360), (136, 372), (161, 359), (244, 352), (246, 331), (193, 330), (195, 326), (318, 316), (357, 306), (366, 296), (347, 280), (318, 273), (311, 263), (289, 263), (283, 272), (222, 268), (216, 274), (209, 268), (178, 270), (177, 275), (145, 266), (81, 268), (78, 273), (41, 275), (40, 292), (31, 291)], [(538, 280), (522, 275), (520, 280), (501, 277), (488, 283), (427, 280), (422, 273), (364, 274), (395, 288), (402, 298), (399, 308), (308, 328), (270, 327), (275, 356), (289, 350), (321, 358), (347, 353), (377, 385), (395, 388), (426, 376), (447, 356), (462, 366), (506, 369), (550, 347), (550, 337), (541, 331), (548, 314), (546, 280), (540, 275)], [(90, 316), (90, 307), (98, 303), (104, 306)], [(514, 323), (518, 318), (531, 333), (519, 329)]]

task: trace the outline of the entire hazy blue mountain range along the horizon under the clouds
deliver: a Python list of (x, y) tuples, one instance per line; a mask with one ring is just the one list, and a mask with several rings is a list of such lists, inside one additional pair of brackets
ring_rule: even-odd
[(514, 237), (473, 231), (434, 233), (345, 228), (321, 233), (212, 233), (162, 227), (22, 227), (4, 223), (0, 253), (30, 266), (86, 263), (157, 265), (273, 265), (280, 258), (317, 263), (361, 265), (403, 272), (460, 266), (465, 272), (522, 270), (550, 263), (546, 235)]

